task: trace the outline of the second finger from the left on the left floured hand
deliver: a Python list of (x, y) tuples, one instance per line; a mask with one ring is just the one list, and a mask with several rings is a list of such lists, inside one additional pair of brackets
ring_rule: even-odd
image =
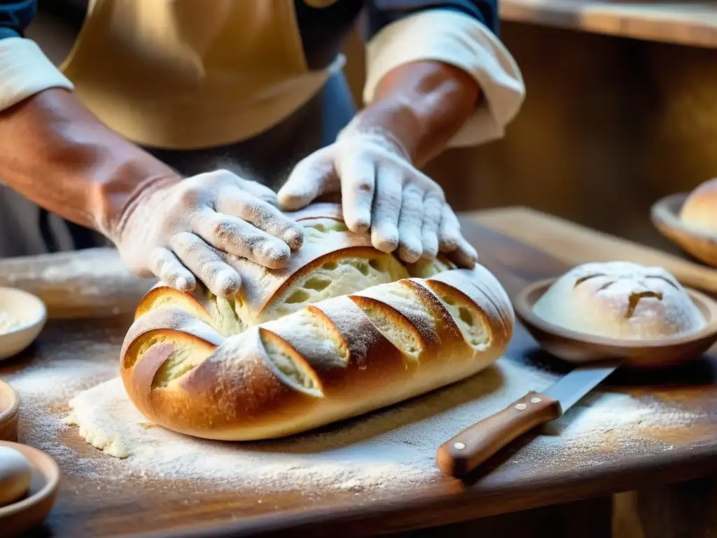
[(216, 296), (234, 298), (242, 279), (237, 271), (224, 263), (214, 248), (189, 232), (173, 235), (169, 243), (177, 257), (209, 291)]

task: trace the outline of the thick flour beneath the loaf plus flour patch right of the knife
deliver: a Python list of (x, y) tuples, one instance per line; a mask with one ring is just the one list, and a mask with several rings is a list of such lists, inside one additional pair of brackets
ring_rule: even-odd
[[(79, 426), (87, 443), (121, 458), (115, 462), (122, 473), (240, 481), (244, 487), (262, 489), (399, 489), (440, 478), (435, 453), (445, 440), (526, 390), (543, 390), (553, 380), (541, 370), (500, 359), (464, 382), (402, 405), (314, 433), (260, 443), (201, 440), (152, 425), (132, 405), (119, 378), (74, 397), (65, 420)], [(612, 393), (596, 393), (575, 409), (551, 425), (547, 435), (533, 440), (526, 454), (536, 462), (559, 464), (563, 457), (589, 458), (596, 450), (599, 454), (601, 443), (630, 450), (640, 438), (651, 438), (652, 430), (673, 424), (679, 428), (698, 418)]]

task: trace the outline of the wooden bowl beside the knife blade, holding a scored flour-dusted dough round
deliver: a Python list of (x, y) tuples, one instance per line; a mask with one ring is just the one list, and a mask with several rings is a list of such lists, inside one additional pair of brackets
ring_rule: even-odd
[(674, 366), (700, 357), (717, 341), (717, 301), (690, 288), (685, 291), (707, 321), (700, 331), (660, 340), (626, 340), (564, 329), (533, 311), (536, 301), (556, 280), (549, 278), (526, 286), (513, 303), (516, 316), (538, 344), (566, 362), (623, 359), (627, 367)]

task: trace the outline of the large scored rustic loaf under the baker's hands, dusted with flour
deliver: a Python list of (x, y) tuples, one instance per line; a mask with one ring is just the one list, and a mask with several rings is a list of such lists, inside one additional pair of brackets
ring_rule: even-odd
[(295, 218), (307, 232), (289, 268), (232, 260), (235, 301), (147, 294), (120, 364), (143, 415), (201, 438), (276, 438), (464, 379), (505, 351), (513, 309), (485, 268), (403, 265), (336, 207)]

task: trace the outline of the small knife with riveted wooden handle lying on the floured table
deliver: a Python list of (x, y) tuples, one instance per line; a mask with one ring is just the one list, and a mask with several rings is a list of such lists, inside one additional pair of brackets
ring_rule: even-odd
[(436, 454), (438, 468), (455, 477), (470, 473), (518, 436), (561, 417), (621, 363), (612, 360), (576, 367), (543, 392), (528, 392), (441, 445)]

